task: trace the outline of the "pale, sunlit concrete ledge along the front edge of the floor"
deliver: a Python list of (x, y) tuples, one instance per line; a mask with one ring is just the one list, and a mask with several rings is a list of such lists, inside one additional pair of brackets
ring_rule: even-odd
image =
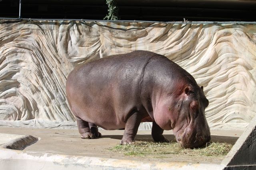
[(84, 170), (84, 169), (168, 169), (168, 170), (220, 170), (222, 164), (191, 164), (183, 162), (142, 162), (88, 156), (23, 152), (0, 149), (1, 169), (19, 170)]

